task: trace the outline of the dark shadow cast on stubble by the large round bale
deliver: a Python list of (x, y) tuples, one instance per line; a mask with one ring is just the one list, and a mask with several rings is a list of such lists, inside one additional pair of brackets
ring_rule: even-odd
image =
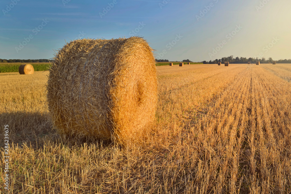
[(102, 143), (103, 146), (111, 145), (111, 141), (100, 141), (97, 138), (77, 137), (73, 135), (59, 135), (53, 128), (48, 113), (31, 113), (18, 111), (13, 113), (1, 113), (0, 142), (4, 141), (4, 125), (8, 125), (9, 144), (18, 143), (18, 146), (26, 143), (33, 149), (42, 148), (48, 142), (63, 144), (69, 147), (81, 147), (84, 143)]

